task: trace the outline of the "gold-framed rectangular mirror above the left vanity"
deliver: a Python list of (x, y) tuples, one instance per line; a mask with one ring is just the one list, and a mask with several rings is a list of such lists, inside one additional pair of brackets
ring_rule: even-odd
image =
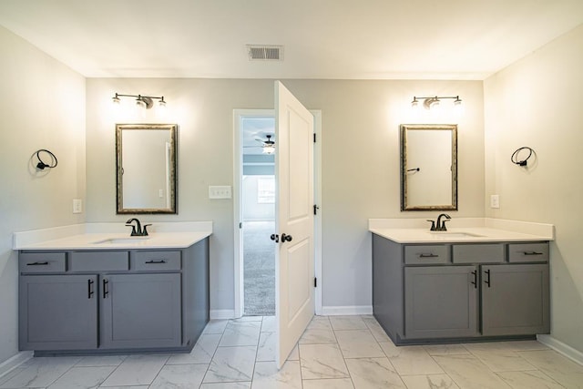
[(177, 212), (176, 124), (117, 124), (118, 214)]

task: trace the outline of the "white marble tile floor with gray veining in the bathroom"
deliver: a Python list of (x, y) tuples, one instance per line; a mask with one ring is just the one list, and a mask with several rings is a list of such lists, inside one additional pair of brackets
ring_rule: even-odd
[(316, 316), (275, 366), (272, 316), (211, 321), (191, 353), (33, 358), (0, 388), (583, 388), (583, 366), (536, 341), (400, 346), (373, 316)]

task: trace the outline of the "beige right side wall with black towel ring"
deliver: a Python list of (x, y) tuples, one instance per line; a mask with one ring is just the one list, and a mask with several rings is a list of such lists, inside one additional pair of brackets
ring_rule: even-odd
[[(552, 223), (551, 332), (583, 352), (583, 26), (485, 82), (488, 216)], [(510, 162), (534, 148), (528, 168)], [(532, 161), (532, 162), (531, 162)]]

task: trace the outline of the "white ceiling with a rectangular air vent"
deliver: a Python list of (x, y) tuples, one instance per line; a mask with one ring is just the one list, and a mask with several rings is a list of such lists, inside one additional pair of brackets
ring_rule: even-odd
[(0, 0), (85, 77), (484, 79), (582, 23), (583, 0)]

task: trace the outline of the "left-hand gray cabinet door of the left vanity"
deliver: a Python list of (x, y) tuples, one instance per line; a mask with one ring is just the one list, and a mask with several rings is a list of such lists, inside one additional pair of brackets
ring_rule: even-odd
[(20, 277), (21, 350), (97, 347), (97, 276)]

